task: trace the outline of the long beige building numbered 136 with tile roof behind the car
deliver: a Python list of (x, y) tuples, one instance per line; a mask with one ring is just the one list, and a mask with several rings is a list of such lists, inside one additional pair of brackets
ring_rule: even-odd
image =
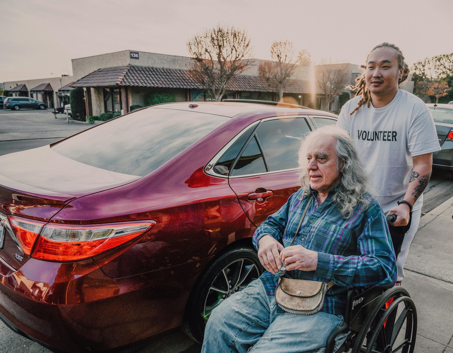
[[(83, 87), (87, 116), (127, 113), (131, 106), (146, 105), (146, 97), (151, 93), (170, 93), (176, 101), (211, 100), (189, 75), (190, 61), (190, 57), (123, 50), (72, 59), (72, 76), (4, 82), (4, 86), (10, 95), (33, 97), (50, 108), (67, 104), (70, 89)], [(260, 62), (253, 59), (251, 67), (230, 81), (225, 98), (278, 99), (275, 90), (258, 77)], [(360, 75), (357, 65), (347, 65), (350, 75), (345, 87)], [(299, 105), (327, 110), (328, 103), (314, 78), (316, 68), (316, 65), (297, 66), (291, 84), (284, 89), (284, 97)], [(410, 84), (407, 90), (410, 91)], [(331, 110), (339, 110), (350, 98), (352, 92), (345, 89), (333, 101)]]

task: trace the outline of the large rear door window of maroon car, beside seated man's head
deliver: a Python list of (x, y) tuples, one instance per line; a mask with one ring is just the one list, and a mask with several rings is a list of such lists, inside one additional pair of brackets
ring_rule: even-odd
[(310, 132), (305, 118), (267, 120), (256, 132), (269, 171), (297, 168), (301, 139)]

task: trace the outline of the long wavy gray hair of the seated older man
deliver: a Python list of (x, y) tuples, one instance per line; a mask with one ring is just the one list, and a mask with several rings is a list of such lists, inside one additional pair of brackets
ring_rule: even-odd
[(334, 146), (337, 153), (337, 171), (343, 161), (338, 191), (333, 196), (333, 203), (342, 213), (343, 218), (350, 218), (357, 204), (365, 209), (370, 205), (366, 192), (370, 191), (370, 183), (365, 169), (358, 157), (357, 150), (346, 131), (333, 125), (326, 125), (307, 134), (299, 148), (299, 184), (304, 189), (304, 196), (310, 196), (310, 180), (307, 171), (307, 147), (311, 141), (332, 136), (336, 139)]

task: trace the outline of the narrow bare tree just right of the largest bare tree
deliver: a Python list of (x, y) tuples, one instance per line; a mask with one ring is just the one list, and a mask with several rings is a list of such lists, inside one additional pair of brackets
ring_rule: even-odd
[(275, 41), (270, 46), (270, 57), (274, 61), (261, 61), (258, 66), (258, 76), (264, 79), (269, 87), (279, 92), (280, 101), (283, 99), (283, 89), (290, 86), (289, 77), (297, 69), (298, 58), (294, 58), (293, 43)]

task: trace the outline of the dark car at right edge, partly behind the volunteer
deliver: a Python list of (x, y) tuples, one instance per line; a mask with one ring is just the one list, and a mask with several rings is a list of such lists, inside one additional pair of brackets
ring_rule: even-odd
[(433, 153), (433, 167), (451, 171), (453, 177), (453, 105), (426, 104), (433, 115), (442, 150)]

